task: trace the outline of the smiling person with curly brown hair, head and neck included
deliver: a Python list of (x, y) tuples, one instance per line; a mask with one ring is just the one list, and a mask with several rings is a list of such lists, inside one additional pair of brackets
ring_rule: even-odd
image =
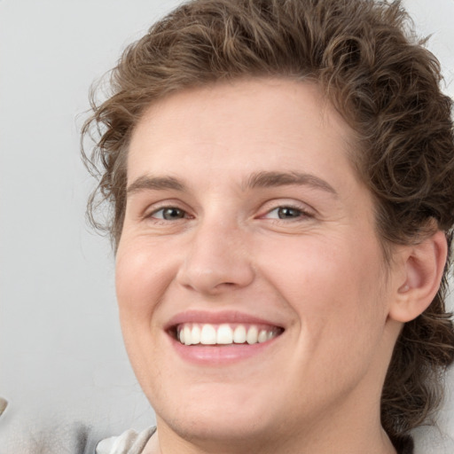
[(124, 51), (83, 153), (157, 427), (99, 454), (413, 452), (454, 360), (423, 44), (400, 2), (194, 0)]

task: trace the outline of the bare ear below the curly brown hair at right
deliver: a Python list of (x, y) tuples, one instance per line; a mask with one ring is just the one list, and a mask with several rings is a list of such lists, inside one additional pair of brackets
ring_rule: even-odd
[(403, 273), (399, 273), (395, 283), (389, 317), (405, 323), (422, 314), (434, 300), (448, 254), (446, 236), (436, 231), (418, 245), (403, 247), (397, 254)]

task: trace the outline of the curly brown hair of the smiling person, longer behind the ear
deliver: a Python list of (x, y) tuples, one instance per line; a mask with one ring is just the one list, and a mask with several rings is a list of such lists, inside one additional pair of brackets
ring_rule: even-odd
[[(96, 127), (87, 166), (99, 184), (92, 223), (114, 247), (121, 237), (129, 138), (145, 109), (170, 92), (241, 77), (317, 82), (356, 132), (352, 160), (376, 200), (385, 258), (416, 243), (428, 226), (454, 223), (451, 100), (440, 90), (438, 61), (411, 31), (400, 2), (372, 0), (194, 0), (133, 43), (111, 73), (109, 98), (97, 103), (83, 135)], [(83, 137), (82, 135), (82, 137)], [(112, 216), (93, 215), (101, 201)], [(428, 309), (405, 324), (381, 399), (392, 438), (422, 424), (440, 403), (454, 330), (444, 301), (449, 263)]]

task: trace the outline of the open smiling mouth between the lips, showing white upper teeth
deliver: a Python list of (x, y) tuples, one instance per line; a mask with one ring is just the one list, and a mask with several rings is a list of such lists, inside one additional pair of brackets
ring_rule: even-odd
[(184, 323), (174, 326), (170, 333), (183, 345), (253, 345), (278, 337), (283, 328), (270, 325), (198, 324)]

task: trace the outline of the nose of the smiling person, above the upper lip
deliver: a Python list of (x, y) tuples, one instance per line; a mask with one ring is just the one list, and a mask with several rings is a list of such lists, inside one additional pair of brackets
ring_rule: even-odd
[(234, 223), (202, 223), (192, 231), (178, 282), (201, 294), (221, 294), (254, 280), (247, 234)]

